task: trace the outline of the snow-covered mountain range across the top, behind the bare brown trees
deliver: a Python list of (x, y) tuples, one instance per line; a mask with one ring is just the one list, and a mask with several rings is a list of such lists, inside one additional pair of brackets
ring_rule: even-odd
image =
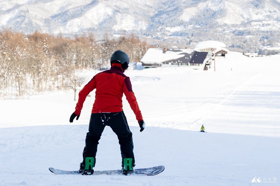
[(68, 36), (93, 32), (97, 38), (134, 33), (148, 41), (182, 45), (221, 35), (230, 38), (222, 42), (231, 47), (240, 47), (231, 38), (244, 42), (248, 36), (266, 39), (262, 45), (277, 45), (279, 22), (280, 0), (0, 1), (1, 29)]

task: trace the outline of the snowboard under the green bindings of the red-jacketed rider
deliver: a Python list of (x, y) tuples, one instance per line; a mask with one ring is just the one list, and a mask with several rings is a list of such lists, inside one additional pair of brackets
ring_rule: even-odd
[[(58, 170), (49, 167), (49, 170), (57, 175), (82, 175), (79, 173), (79, 170), (67, 171), (67, 170)], [(164, 166), (156, 166), (143, 169), (133, 169), (133, 173), (130, 175), (144, 175), (144, 176), (153, 176), (161, 173), (164, 170)], [(95, 170), (92, 175), (123, 175), (122, 170)]]

